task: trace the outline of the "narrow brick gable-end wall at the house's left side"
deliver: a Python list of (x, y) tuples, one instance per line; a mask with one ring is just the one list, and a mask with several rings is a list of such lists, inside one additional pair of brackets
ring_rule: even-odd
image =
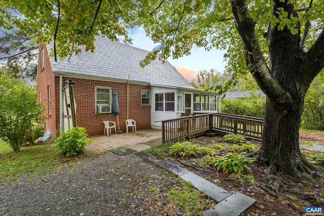
[[(41, 68), (41, 52), (44, 48), (44, 68)], [(48, 58), (48, 50), (44, 44), (39, 45), (39, 56), (38, 56), (38, 73), (37, 73), (37, 96), (39, 92), (41, 93), (40, 101), (46, 107), (44, 116), (47, 117), (45, 120), (45, 129), (51, 130), (52, 137), (56, 138), (55, 131), (59, 124), (57, 119), (59, 119), (59, 113), (55, 112), (55, 107), (57, 104), (56, 98), (56, 89), (55, 79), (53, 74), (52, 65), (50, 59)], [(48, 87), (51, 87), (51, 114), (49, 114), (49, 92)], [(39, 101), (39, 100), (38, 100)]]

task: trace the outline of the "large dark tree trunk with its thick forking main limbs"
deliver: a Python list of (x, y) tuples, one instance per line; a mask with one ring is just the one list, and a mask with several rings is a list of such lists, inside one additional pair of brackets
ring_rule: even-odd
[[(267, 95), (262, 146), (257, 159), (268, 165), (269, 172), (307, 176), (316, 167), (299, 149), (299, 126), (305, 94), (314, 77), (323, 68), (324, 30), (305, 53), (301, 46), (299, 23), (297, 34), (286, 26), (269, 25), (266, 39), (269, 66), (261, 52), (246, 0), (230, 1), (236, 29), (245, 49), (247, 65), (260, 89)], [(293, 4), (274, 0), (272, 16), (284, 9), (288, 17), (296, 17)]]

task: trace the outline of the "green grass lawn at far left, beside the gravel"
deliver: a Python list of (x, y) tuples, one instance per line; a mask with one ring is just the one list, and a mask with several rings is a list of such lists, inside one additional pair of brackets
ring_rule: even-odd
[(21, 176), (32, 178), (63, 165), (50, 142), (22, 146), (19, 152), (13, 152), (7, 143), (0, 140), (0, 186)]

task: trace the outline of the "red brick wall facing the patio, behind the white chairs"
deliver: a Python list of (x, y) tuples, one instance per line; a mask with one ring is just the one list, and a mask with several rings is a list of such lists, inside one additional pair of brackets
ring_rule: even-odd
[[(121, 131), (126, 131), (127, 83), (63, 77), (63, 87), (67, 79), (75, 81), (73, 85), (73, 95), (76, 103), (76, 124), (85, 127), (88, 135), (103, 134), (104, 124), (102, 121), (106, 120), (115, 121), (116, 129), (118, 130), (117, 116), (112, 113), (95, 113), (95, 87), (110, 87), (111, 96), (114, 91), (117, 92), (120, 110), (119, 128)], [(59, 86), (59, 77), (55, 77), (55, 83), (56, 86)], [(129, 119), (134, 119), (136, 121), (137, 129), (149, 129), (151, 127), (151, 107), (141, 105), (141, 90), (144, 89), (150, 90), (150, 86), (139, 84), (129, 85)], [(56, 98), (56, 110), (59, 110), (59, 96)], [(58, 112), (56, 114), (59, 116)], [(114, 133), (113, 130), (112, 133)]]

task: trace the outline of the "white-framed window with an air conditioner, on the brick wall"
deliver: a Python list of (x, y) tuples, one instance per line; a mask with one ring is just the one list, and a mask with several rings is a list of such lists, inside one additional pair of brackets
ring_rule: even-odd
[(96, 113), (111, 113), (111, 88), (96, 87)]

